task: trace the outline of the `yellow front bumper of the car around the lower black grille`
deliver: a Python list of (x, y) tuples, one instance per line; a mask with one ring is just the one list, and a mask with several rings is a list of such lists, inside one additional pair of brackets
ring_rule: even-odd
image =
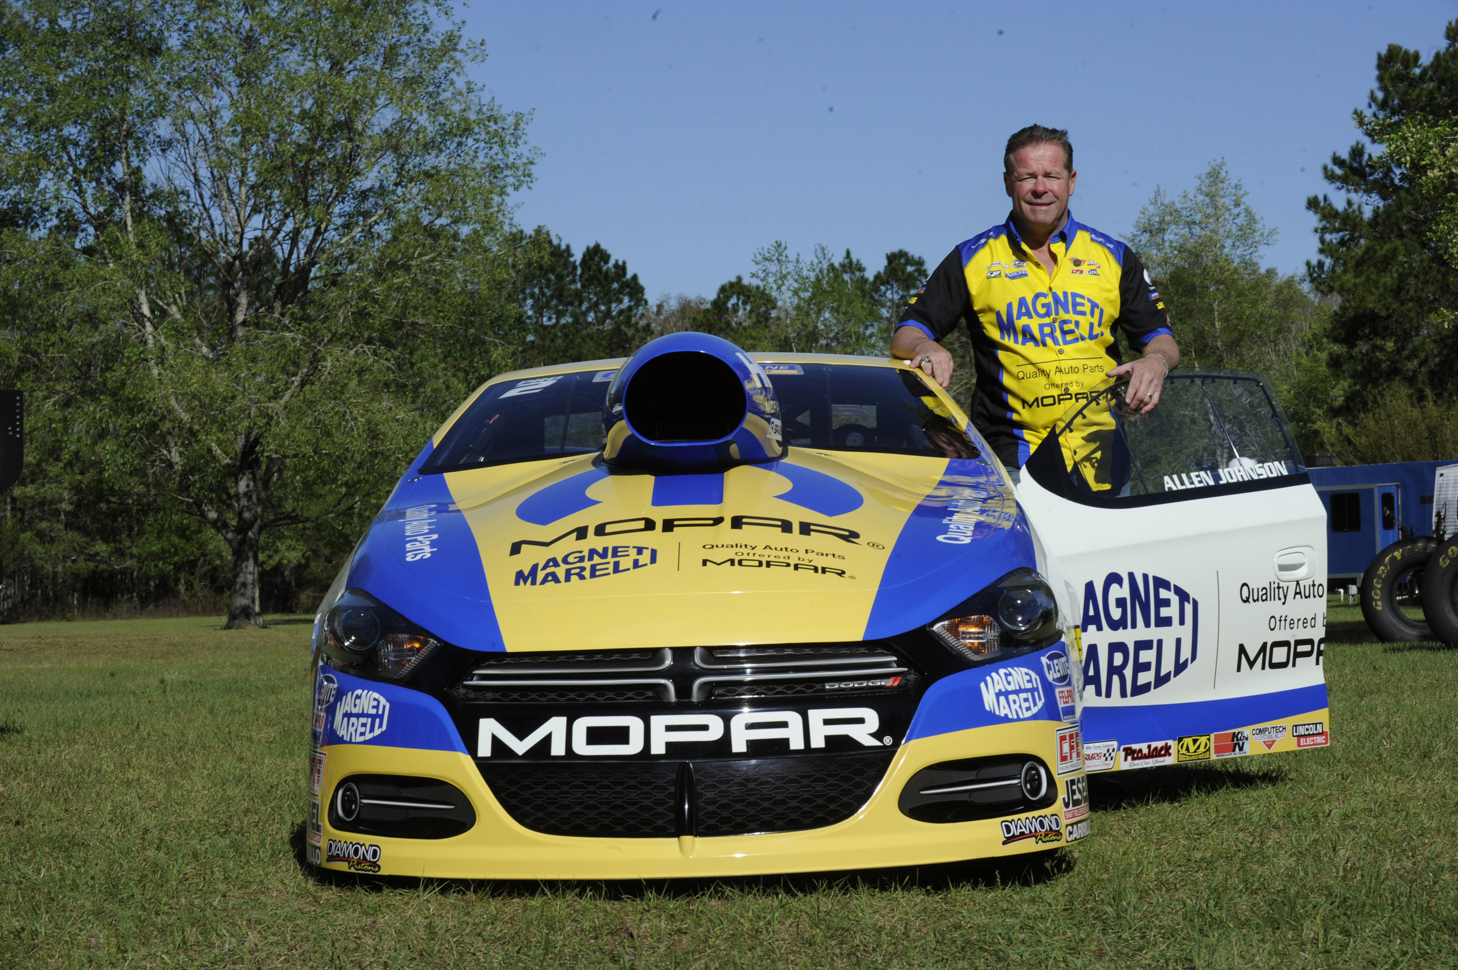
[[(1026, 721), (908, 741), (898, 750), (870, 801), (851, 818), (834, 826), (805, 831), (678, 839), (542, 834), (523, 829), (506, 814), (467, 754), (335, 744), (324, 750), (324, 799), (350, 775), (430, 776), (465, 792), (475, 808), (477, 823), (461, 836), (417, 840), (337, 831), (328, 818), (322, 818), (318, 824), (321, 856), (330, 855), (331, 843), (367, 843), (378, 847), (378, 852), (366, 849), (362, 853), (356, 849), (353, 855), (363, 856), (359, 861), (328, 862), (321, 858), (321, 864), (325, 869), (343, 872), (376, 872), (378, 866), (381, 875), (434, 878), (636, 880), (923, 865), (1035, 852), (1064, 845), (1066, 836), (1086, 834), (1086, 807), (1070, 811), (1076, 818), (1063, 820), (1063, 805), (1069, 804), (1070, 795), (1069, 783), (1072, 780), (1080, 785), (1082, 773), (1057, 777), (1059, 799), (1054, 805), (1042, 812), (1024, 815), (1057, 814), (1059, 831), (1044, 831), (1015, 842), (1007, 842), (1003, 820), (921, 823), (904, 815), (897, 799), (916, 772), (939, 761), (1016, 751), (1034, 754), (1045, 764), (1056, 766), (1060, 728), (1066, 725)], [(1073, 799), (1075, 805), (1079, 802), (1079, 798)], [(1070, 830), (1069, 826), (1075, 827)]]

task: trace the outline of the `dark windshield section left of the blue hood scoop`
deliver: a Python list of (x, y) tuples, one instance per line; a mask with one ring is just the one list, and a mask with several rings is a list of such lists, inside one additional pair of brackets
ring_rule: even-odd
[(503, 381), (451, 426), (421, 474), (602, 451), (602, 407), (615, 370)]

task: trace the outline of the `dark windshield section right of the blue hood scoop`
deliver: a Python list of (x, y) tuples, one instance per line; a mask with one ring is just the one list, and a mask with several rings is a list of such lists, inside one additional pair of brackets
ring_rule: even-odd
[(767, 363), (790, 448), (977, 458), (951, 411), (910, 370)]

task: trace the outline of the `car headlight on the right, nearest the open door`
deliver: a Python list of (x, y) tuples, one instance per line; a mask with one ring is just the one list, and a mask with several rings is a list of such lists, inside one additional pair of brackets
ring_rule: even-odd
[(975, 662), (1042, 649), (1063, 633), (1053, 591), (1031, 569), (1015, 569), (927, 630)]

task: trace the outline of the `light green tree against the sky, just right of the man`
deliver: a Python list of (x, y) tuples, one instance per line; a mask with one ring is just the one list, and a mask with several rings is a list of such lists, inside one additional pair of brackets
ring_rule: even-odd
[(1314, 448), (1336, 394), (1322, 357), (1325, 312), (1298, 277), (1261, 267), (1274, 241), (1223, 160), (1177, 198), (1156, 188), (1130, 233), (1185, 365), (1266, 373)]

